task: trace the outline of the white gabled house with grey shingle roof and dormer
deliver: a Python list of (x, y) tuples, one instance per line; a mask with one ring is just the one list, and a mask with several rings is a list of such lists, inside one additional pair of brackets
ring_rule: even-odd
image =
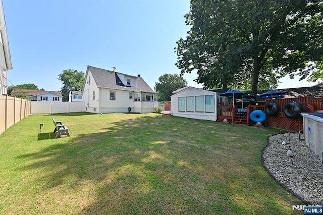
[[(85, 110), (91, 113), (150, 113), (157, 93), (138, 76), (87, 66), (83, 84)], [(129, 109), (130, 108), (130, 109)]]

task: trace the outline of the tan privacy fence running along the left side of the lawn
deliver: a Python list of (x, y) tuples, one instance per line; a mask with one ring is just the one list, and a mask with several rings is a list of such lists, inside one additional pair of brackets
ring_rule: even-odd
[(30, 100), (0, 95), (0, 134), (30, 114)]

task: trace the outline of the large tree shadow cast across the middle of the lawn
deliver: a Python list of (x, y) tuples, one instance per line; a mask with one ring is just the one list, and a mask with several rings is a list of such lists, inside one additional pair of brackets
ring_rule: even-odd
[[(232, 157), (231, 151), (223, 148), (227, 142), (217, 143), (223, 137), (218, 140), (217, 134), (211, 134), (231, 128), (233, 135), (239, 136), (234, 134), (235, 127), (161, 115), (138, 116), (104, 121), (98, 133), (53, 140), (38, 152), (19, 156), (29, 160), (20, 170), (42, 170), (33, 180), (43, 184), (44, 190), (89, 190), (81, 196), (94, 197), (94, 201), (79, 205), (81, 209), (73, 213), (246, 214), (255, 213), (258, 206), (268, 213), (285, 212), (281, 206), (284, 199), (276, 195), (276, 190), (282, 189), (275, 181), (267, 174), (254, 173), (253, 166), (241, 168), (240, 160), (246, 159), (243, 153)], [(41, 138), (51, 139), (51, 135)], [(257, 184), (254, 178), (267, 185)], [(243, 200), (248, 198), (253, 198), (251, 203)]]

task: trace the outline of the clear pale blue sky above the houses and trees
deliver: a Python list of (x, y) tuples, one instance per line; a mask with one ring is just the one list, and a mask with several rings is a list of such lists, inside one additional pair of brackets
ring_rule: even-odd
[[(136, 76), (153, 88), (175, 66), (176, 41), (189, 26), (189, 0), (3, 0), (13, 70), (8, 85), (34, 83), (58, 91), (65, 69), (88, 65)], [(189, 86), (196, 73), (185, 74)], [(315, 83), (283, 78), (280, 88)]]

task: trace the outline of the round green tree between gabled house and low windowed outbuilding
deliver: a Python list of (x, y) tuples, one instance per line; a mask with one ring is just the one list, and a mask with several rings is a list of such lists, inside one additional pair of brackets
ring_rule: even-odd
[(159, 83), (155, 82), (154, 89), (159, 93), (159, 101), (170, 101), (173, 91), (187, 86), (187, 81), (178, 74), (164, 74), (158, 80)]

